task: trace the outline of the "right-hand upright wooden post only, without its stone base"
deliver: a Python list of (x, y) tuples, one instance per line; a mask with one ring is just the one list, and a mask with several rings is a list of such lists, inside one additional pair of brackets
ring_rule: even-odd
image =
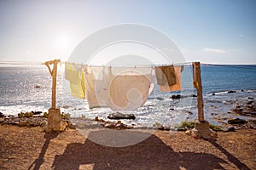
[(193, 63), (194, 66), (194, 75), (193, 75), (193, 83), (196, 88), (197, 93), (197, 110), (198, 110), (198, 121), (205, 122), (204, 119), (204, 104), (202, 97), (202, 86), (201, 86), (201, 68), (200, 62)]

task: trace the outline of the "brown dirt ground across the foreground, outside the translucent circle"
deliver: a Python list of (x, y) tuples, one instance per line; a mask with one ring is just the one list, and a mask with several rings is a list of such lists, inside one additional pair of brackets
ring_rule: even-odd
[(75, 129), (0, 125), (0, 169), (256, 169), (256, 130), (218, 132), (212, 141), (156, 131), (138, 144), (109, 147)]

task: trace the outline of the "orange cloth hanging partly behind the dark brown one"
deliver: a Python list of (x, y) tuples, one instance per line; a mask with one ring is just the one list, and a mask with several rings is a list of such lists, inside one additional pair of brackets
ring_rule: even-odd
[(167, 83), (164, 86), (160, 86), (160, 91), (162, 92), (172, 92), (172, 91), (177, 91), (181, 90), (181, 66), (174, 66), (174, 73), (175, 73), (175, 79), (176, 79), (176, 84), (169, 86)]

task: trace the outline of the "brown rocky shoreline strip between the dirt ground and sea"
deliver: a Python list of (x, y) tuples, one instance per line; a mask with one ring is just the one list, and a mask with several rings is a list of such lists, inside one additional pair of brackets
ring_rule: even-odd
[[(229, 118), (232, 115), (234, 118)], [(241, 119), (239, 116), (246, 116), (247, 119)], [(0, 123), (15, 125), (19, 127), (44, 127), (47, 124), (48, 113), (43, 113), (42, 111), (31, 111), (23, 112), (18, 114), (18, 116), (4, 116), (0, 112)], [(155, 123), (152, 127), (141, 127), (136, 124), (126, 125), (121, 120), (122, 119), (135, 119), (136, 117), (133, 114), (125, 115), (122, 113), (113, 113), (108, 117), (111, 121), (103, 120), (99, 117), (95, 119), (88, 119), (86, 117), (75, 117), (70, 118), (69, 114), (61, 113), (62, 122), (67, 122), (68, 128), (79, 128), (79, 129), (89, 129), (89, 128), (110, 128), (110, 129), (131, 129), (131, 128), (140, 128), (140, 129), (159, 129), (159, 130), (177, 130), (177, 131), (186, 131), (195, 127), (194, 122), (181, 122), (175, 127), (164, 127), (159, 123)], [(251, 119), (250, 119), (251, 117)], [(212, 130), (215, 131), (224, 131), (230, 132), (235, 131), (236, 129), (256, 129), (256, 100), (249, 99), (244, 103), (237, 104), (230, 112), (222, 114), (222, 117), (214, 117), (218, 119), (218, 122), (222, 123), (222, 126), (211, 125)], [(115, 120), (113, 120), (115, 119)]]

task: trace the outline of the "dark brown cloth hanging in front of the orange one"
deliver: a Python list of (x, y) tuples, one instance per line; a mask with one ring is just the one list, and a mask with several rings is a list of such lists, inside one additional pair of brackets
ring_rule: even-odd
[(155, 67), (155, 76), (160, 86), (165, 86), (166, 83), (172, 86), (177, 83), (173, 65)]

